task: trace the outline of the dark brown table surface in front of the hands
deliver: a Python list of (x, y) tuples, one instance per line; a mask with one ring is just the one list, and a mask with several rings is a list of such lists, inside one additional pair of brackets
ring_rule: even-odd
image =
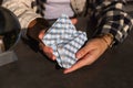
[(20, 41), (18, 61), (0, 67), (0, 88), (133, 88), (132, 35), (91, 66), (68, 75)]

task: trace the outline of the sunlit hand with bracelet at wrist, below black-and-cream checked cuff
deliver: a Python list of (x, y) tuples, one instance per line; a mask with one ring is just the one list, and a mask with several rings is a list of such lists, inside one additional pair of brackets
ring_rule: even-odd
[[(112, 40), (109, 36), (103, 36), (109, 44)], [(78, 63), (71, 68), (64, 69), (64, 74), (72, 73), (83, 66), (94, 63), (109, 47), (108, 43), (102, 37), (96, 37), (89, 41), (84, 47), (76, 53)]]

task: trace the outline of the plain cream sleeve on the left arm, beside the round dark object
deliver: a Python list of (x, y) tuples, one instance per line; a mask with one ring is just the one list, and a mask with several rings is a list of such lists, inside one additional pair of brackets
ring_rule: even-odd
[(31, 8), (32, 0), (3, 0), (2, 7), (12, 11), (19, 19), (22, 35), (27, 34), (27, 28), (31, 21), (37, 18), (41, 18), (35, 11)]

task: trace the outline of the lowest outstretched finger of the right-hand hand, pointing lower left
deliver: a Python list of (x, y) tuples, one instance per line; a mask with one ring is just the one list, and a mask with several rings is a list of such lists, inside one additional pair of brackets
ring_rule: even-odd
[(91, 54), (88, 54), (86, 56), (84, 56), (82, 59), (80, 59), (75, 65), (73, 65), (71, 68), (68, 68), (64, 70), (64, 74), (69, 74), (69, 73), (72, 73), (85, 65), (90, 65), (93, 63), (93, 55)]

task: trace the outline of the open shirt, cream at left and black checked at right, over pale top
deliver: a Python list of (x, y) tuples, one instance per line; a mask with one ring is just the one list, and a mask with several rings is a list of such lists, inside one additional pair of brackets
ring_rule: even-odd
[[(2, 6), (14, 12), (23, 29), (33, 19), (43, 15), (44, 2), (45, 0), (3, 0)], [(112, 33), (115, 43), (123, 42), (132, 29), (131, 16), (124, 10), (125, 0), (71, 0), (71, 4), (78, 16), (95, 18), (95, 32)]]

